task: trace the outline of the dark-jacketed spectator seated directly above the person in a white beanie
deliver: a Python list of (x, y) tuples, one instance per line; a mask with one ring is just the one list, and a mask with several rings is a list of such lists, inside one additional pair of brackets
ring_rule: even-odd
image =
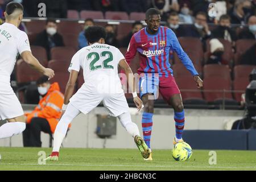
[(212, 38), (221, 38), (228, 40), (233, 44), (236, 41), (236, 32), (230, 27), (230, 16), (229, 15), (221, 15), (218, 23), (218, 27), (216, 27), (212, 31)]

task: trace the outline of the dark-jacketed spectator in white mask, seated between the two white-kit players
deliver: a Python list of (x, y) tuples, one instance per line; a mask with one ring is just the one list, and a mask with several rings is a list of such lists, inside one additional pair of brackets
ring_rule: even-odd
[(48, 60), (51, 60), (51, 48), (64, 46), (62, 36), (57, 32), (55, 20), (49, 19), (46, 22), (46, 30), (36, 36), (35, 46), (42, 46), (46, 49)]

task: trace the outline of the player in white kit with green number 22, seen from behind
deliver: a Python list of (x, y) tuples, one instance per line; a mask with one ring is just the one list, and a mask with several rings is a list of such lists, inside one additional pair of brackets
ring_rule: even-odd
[[(129, 106), (118, 77), (119, 65), (125, 71), (129, 86), (133, 90), (135, 105), (140, 110), (143, 105), (135, 92), (135, 79), (131, 68), (118, 48), (105, 44), (106, 32), (103, 27), (89, 27), (86, 29), (85, 36), (89, 46), (80, 49), (71, 60), (68, 68), (70, 76), (62, 108), (64, 114), (54, 133), (52, 154), (46, 160), (59, 160), (60, 146), (67, 133), (69, 123), (81, 112), (89, 113), (101, 101), (109, 114), (118, 117), (122, 126), (134, 137), (135, 144), (143, 158), (147, 159), (150, 150), (140, 137), (138, 126), (131, 121)], [(83, 70), (85, 82), (73, 95), (80, 68)]]

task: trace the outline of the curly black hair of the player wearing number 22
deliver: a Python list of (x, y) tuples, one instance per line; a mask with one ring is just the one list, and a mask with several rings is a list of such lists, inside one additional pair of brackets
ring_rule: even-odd
[(85, 31), (85, 38), (88, 43), (98, 42), (101, 38), (106, 38), (106, 31), (104, 27), (92, 26), (88, 27)]

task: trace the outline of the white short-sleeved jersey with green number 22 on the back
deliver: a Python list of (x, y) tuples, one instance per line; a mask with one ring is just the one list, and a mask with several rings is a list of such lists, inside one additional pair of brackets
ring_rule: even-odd
[[(94, 43), (80, 49), (72, 58), (68, 71), (83, 69), (84, 85), (97, 93), (123, 93), (118, 77), (118, 63), (125, 59), (118, 48)], [(84, 86), (83, 85), (83, 86)]]

